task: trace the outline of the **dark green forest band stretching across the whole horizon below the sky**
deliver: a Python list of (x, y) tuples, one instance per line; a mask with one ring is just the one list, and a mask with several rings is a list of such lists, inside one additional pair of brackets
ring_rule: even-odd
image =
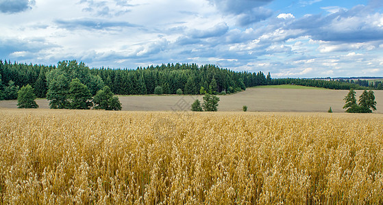
[(154, 94), (156, 87), (162, 87), (163, 94), (200, 94), (201, 87), (212, 94), (240, 92), (258, 85), (295, 84), (311, 87), (325, 87), (335, 90), (382, 90), (382, 82), (369, 81), (325, 81), (314, 79), (271, 79), (263, 72), (236, 72), (219, 68), (213, 64), (162, 64), (136, 69), (88, 68), (77, 61), (60, 61), (57, 66), (21, 64), (0, 60), (0, 99), (15, 99), (15, 91), (24, 85), (32, 85), (39, 98), (45, 98), (49, 90), (49, 73), (64, 70), (66, 77), (78, 78), (94, 95), (104, 85), (114, 94)]

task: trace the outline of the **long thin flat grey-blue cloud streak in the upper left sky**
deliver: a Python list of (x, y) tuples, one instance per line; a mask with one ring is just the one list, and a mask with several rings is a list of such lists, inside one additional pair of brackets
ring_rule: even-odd
[(112, 29), (114, 27), (140, 27), (125, 21), (110, 21), (103, 19), (79, 18), (74, 20), (55, 20), (55, 24), (64, 29)]

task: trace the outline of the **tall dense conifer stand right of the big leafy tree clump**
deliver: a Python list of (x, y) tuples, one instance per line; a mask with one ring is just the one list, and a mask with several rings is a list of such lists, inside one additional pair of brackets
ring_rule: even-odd
[(212, 94), (226, 94), (268, 82), (262, 72), (234, 72), (212, 64), (162, 64), (136, 70), (92, 68), (90, 72), (101, 77), (112, 92), (123, 95), (156, 94), (156, 87), (162, 94), (177, 94), (177, 90), (178, 94), (180, 90), (182, 94), (200, 94), (201, 87)]

